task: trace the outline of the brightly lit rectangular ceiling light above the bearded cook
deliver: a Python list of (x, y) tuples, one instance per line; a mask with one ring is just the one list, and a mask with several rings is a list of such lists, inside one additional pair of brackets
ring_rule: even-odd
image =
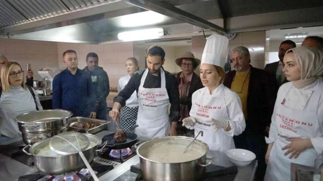
[(128, 32), (120, 32), (117, 37), (123, 41), (138, 41), (138, 40), (151, 40), (164, 35), (164, 29), (151, 28), (144, 30), (134, 30)]

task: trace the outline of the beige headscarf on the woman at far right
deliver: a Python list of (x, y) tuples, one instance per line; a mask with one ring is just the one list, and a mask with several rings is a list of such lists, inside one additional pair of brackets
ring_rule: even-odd
[(302, 46), (290, 49), (286, 53), (291, 51), (301, 69), (301, 79), (292, 81), (294, 87), (297, 89), (303, 88), (323, 76), (323, 51)]

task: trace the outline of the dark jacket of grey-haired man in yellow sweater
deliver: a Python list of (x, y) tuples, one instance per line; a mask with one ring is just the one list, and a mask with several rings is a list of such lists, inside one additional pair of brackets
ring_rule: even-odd
[[(236, 71), (225, 74), (224, 86), (231, 88)], [(266, 126), (270, 126), (277, 96), (276, 78), (269, 72), (251, 66), (247, 97), (247, 114), (245, 131), (262, 135)]]

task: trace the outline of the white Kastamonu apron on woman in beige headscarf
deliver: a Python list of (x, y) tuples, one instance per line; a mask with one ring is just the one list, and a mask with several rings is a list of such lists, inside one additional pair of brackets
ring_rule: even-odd
[[(321, 134), (317, 116), (318, 102), (322, 91), (319, 87), (316, 86), (303, 110), (287, 108), (283, 105), (285, 100), (281, 100), (282, 103), (276, 105), (277, 135), (270, 152), (265, 181), (289, 181), (291, 178), (291, 163), (314, 167), (314, 160), (317, 157), (314, 148), (305, 149), (296, 159), (289, 159), (291, 153), (284, 156), (288, 149), (282, 150), (282, 148), (291, 143), (287, 141), (289, 138), (314, 138)], [(286, 95), (283, 97), (286, 97)]]

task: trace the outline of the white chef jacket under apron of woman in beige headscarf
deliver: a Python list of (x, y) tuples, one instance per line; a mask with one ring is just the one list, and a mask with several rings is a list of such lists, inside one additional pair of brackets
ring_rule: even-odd
[[(321, 82), (319, 84), (319, 82)], [(285, 98), (285, 106), (288, 108), (293, 108), (297, 110), (302, 110), (305, 105), (307, 104), (308, 99), (311, 97), (312, 91), (316, 86), (322, 86), (322, 80), (316, 80), (314, 83), (311, 85), (305, 86), (301, 89), (297, 89), (294, 86), (290, 88), (290, 84), (292, 82), (288, 82), (280, 86), (277, 94), (277, 99), (276, 99), (276, 104), (280, 104), (281, 100), (284, 100)], [(323, 86), (322, 86), (323, 89)], [(286, 92), (289, 90), (288, 94), (286, 97), (283, 97)], [(285, 94), (284, 94), (285, 93)], [(272, 143), (276, 139), (277, 131), (276, 131), (276, 106), (274, 108), (274, 112), (271, 118), (271, 124), (270, 124), (270, 131), (269, 131), (269, 139), (266, 139), (267, 143)], [(321, 127), (321, 131), (323, 131), (323, 92), (321, 93), (318, 107), (317, 107), (317, 115), (319, 119), (319, 125)], [(320, 133), (318, 133), (320, 134)], [(323, 151), (323, 137), (319, 137), (321, 135), (318, 135), (318, 137), (311, 138), (312, 145), (314, 149), (317, 151), (318, 154), (321, 154)]]

